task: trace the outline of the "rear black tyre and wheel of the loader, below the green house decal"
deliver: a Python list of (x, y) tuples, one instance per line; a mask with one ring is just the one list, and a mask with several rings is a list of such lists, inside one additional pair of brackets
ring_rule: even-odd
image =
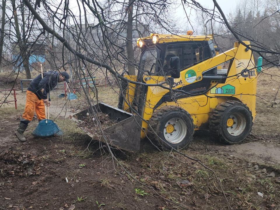
[(231, 144), (246, 139), (252, 126), (252, 112), (248, 106), (239, 101), (225, 101), (218, 104), (209, 118), (210, 130)]

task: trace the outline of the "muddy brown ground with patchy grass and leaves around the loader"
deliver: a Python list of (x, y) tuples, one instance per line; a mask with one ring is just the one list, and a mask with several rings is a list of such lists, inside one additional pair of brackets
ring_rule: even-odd
[[(6, 87), (2, 81), (0, 75), (0, 90)], [(243, 143), (222, 145), (209, 131), (200, 131), (182, 151), (216, 170), (217, 177), (183, 155), (155, 150), (146, 139), (139, 153), (113, 149), (116, 163), (69, 118), (87, 105), (78, 93), (78, 100), (58, 99), (63, 87), (52, 92), (50, 113), (64, 135), (34, 138), (34, 119), (25, 133), (28, 141), (19, 143), (14, 131), (25, 92), (15, 87), (18, 109), (0, 108), (0, 209), (230, 209), (229, 204), (280, 209), (279, 85), (278, 69), (258, 75), (258, 114)], [(99, 101), (116, 105), (115, 90), (99, 87)]]

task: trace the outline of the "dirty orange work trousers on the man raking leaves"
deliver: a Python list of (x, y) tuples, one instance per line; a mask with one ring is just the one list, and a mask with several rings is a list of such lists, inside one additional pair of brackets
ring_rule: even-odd
[(46, 119), (43, 99), (39, 100), (33, 92), (27, 90), (25, 109), (22, 118), (30, 122), (33, 119), (34, 112), (36, 112), (39, 121)]

